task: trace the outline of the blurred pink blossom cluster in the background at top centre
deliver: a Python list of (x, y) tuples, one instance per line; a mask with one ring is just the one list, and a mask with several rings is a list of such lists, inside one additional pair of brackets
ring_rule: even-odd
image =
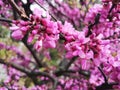
[(59, 19), (62, 19), (63, 21), (68, 21), (79, 27), (81, 12), (79, 8), (77, 8), (77, 6), (75, 7), (74, 5), (73, 7), (70, 7), (68, 3), (65, 3), (63, 1), (60, 2), (59, 0), (55, 0), (54, 3), (55, 5), (51, 3), (54, 7), (50, 7), (50, 11), (52, 11), (53, 14), (59, 16)]

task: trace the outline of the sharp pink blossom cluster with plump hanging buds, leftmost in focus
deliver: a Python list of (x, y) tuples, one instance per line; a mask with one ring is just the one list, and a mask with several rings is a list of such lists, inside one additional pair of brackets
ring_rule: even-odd
[[(37, 13), (39, 12), (39, 13)], [(42, 47), (55, 48), (57, 40), (59, 39), (59, 30), (57, 22), (51, 21), (51, 17), (42, 18), (42, 12), (37, 10), (34, 12), (37, 15), (31, 15), (29, 21), (13, 21), (12, 38), (15, 40), (22, 40), (28, 33), (28, 43), (34, 43), (34, 48), (38, 51)]]

